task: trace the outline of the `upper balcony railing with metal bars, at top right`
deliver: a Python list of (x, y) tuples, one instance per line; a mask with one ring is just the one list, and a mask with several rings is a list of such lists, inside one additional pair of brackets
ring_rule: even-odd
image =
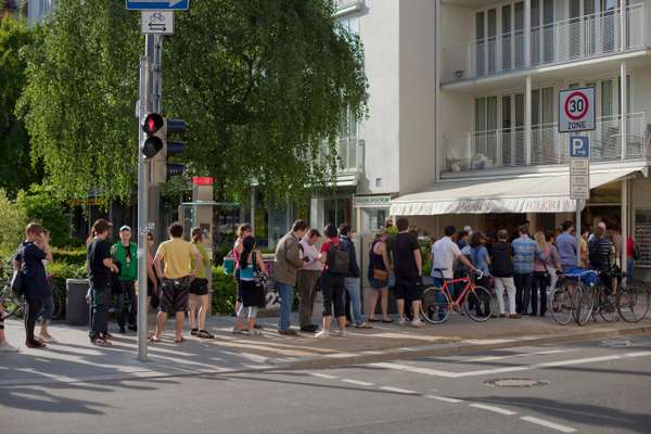
[[(624, 48), (621, 41), (621, 9), (534, 27), (529, 38), (519, 30), (446, 48), (442, 82), (446, 85), (644, 49), (651, 46), (648, 13), (649, 8), (644, 3), (624, 9)], [(528, 62), (526, 39), (531, 46)]]

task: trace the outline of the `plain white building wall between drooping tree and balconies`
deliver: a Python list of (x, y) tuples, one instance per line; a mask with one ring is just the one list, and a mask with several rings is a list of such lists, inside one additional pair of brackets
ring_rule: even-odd
[(350, 222), (371, 233), (390, 217), (392, 197), (435, 181), (435, 7), (339, 1), (339, 20), (365, 47), (369, 116), (342, 122), (336, 189), (311, 200), (314, 227)]

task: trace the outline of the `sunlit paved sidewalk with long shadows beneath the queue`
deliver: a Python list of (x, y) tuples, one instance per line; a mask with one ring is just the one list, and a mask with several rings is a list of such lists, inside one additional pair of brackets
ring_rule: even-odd
[[(297, 337), (282, 336), (276, 331), (276, 318), (263, 318), (261, 336), (243, 336), (230, 332), (233, 318), (215, 317), (208, 324), (216, 334), (215, 340), (190, 337), (187, 332), (189, 337), (180, 345), (173, 342), (173, 322), (168, 321), (164, 342), (150, 344), (150, 361), (145, 363), (136, 359), (135, 333), (115, 333), (113, 346), (102, 348), (88, 342), (85, 328), (53, 324), (51, 333), (58, 342), (48, 344), (47, 349), (28, 349), (21, 345), (17, 354), (0, 355), (0, 386), (333, 368), (651, 332), (651, 319), (635, 324), (599, 321), (586, 327), (562, 327), (550, 318), (490, 319), (477, 323), (452, 316), (445, 324), (424, 329), (375, 323), (372, 330), (348, 329), (346, 337), (333, 335), (317, 340), (307, 333)], [(24, 340), (21, 322), (10, 320), (5, 327), (11, 343), (15, 345)], [(111, 328), (114, 330), (115, 324)]]

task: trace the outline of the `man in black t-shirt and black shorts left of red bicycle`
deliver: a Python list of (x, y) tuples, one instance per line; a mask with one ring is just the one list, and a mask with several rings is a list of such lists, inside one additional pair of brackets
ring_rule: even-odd
[(405, 217), (396, 221), (399, 233), (391, 242), (391, 252), (394, 265), (396, 284), (394, 288), (396, 304), (398, 307), (398, 323), (407, 323), (405, 319), (405, 298), (411, 301), (413, 320), (411, 326), (421, 328), (423, 323), (419, 318), (421, 309), (422, 256), (418, 238), (409, 232), (409, 220)]

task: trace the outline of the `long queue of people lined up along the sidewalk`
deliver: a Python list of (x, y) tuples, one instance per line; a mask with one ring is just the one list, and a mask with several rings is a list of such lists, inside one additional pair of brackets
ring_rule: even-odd
[[(291, 312), (295, 292), (298, 295), (298, 327), (316, 337), (331, 335), (333, 319), (337, 335), (346, 334), (346, 327), (371, 328), (371, 322), (393, 322), (388, 315), (388, 293), (393, 291), (400, 326), (422, 328), (418, 312), (421, 310), (423, 257), (416, 231), (410, 230), (407, 218), (398, 218), (396, 228), (380, 230), (368, 246), (367, 277), (371, 288), (368, 299), (368, 321), (361, 309), (361, 271), (357, 261), (349, 225), (336, 228), (328, 225), (323, 230), (324, 242), (318, 229), (296, 220), (290, 232), (282, 237), (276, 247), (272, 278), (280, 295), (278, 332), (296, 335), (291, 328)], [(108, 242), (112, 225), (99, 219), (92, 227), (87, 242), (87, 270), (90, 281), (87, 301), (90, 305), (89, 339), (99, 346), (111, 345), (108, 308), (115, 299), (115, 312), (119, 333), (127, 329), (137, 331), (138, 315), (138, 248), (131, 242), (131, 229), (119, 228), (119, 241)], [(388, 229), (397, 229), (390, 235)], [(210, 259), (204, 246), (204, 233), (195, 228), (191, 242), (182, 239), (183, 227), (175, 222), (168, 228), (169, 239), (152, 254), (153, 237), (148, 235), (146, 258), (148, 308), (157, 309), (156, 330), (149, 339), (161, 342), (168, 316), (176, 320), (175, 342), (183, 342), (186, 317), (191, 334), (200, 339), (214, 339), (206, 330), (208, 280), (206, 276)], [(26, 301), (25, 345), (42, 348), (53, 340), (48, 331), (52, 317), (53, 301), (48, 282), (47, 267), (52, 261), (49, 235), (44, 228), (30, 224), (20, 245), (14, 268), (22, 275)], [(597, 270), (600, 278), (614, 294), (621, 273), (622, 250), (627, 250), (628, 277), (633, 277), (637, 246), (631, 238), (622, 240), (615, 224), (600, 222), (593, 232), (584, 230), (577, 241), (574, 224), (565, 221), (554, 231), (542, 228), (534, 233), (528, 224), (516, 233), (506, 229), (486, 233), (465, 227), (457, 230), (448, 226), (444, 235), (431, 244), (432, 267), (430, 277), (435, 286), (445, 281), (452, 289), (452, 297), (463, 288), (452, 280), (478, 271), (476, 283), (494, 288), (497, 293), (498, 312), (501, 318), (519, 319), (522, 316), (546, 316), (547, 292), (554, 288), (558, 275), (576, 272), (586, 268)], [(233, 245), (234, 278), (238, 286), (235, 320), (232, 329), (238, 334), (259, 334), (256, 322), (260, 308), (265, 307), (267, 266), (256, 246), (251, 225), (238, 229)], [(321, 292), (321, 324), (312, 322), (317, 291)], [(505, 304), (505, 292), (507, 303)], [(381, 316), (376, 316), (380, 302)], [(480, 306), (476, 307), (480, 309)], [(416, 315), (414, 315), (416, 312)], [(2, 312), (0, 312), (1, 315)], [(333, 318), (334, 317), (334, 318)], [(0, 318), (2, 318), (0, 316)], [(35, 327), (41, 318), (38, 335)], [(0, 321), (0, 349), (16, 350), (4, 337)]]

